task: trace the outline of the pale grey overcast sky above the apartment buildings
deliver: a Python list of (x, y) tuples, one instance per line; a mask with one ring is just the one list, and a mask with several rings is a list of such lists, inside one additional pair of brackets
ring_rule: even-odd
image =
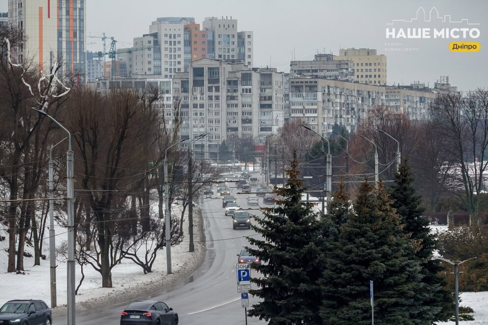
[[(6, 9), (6, 0), (3, 0)], [(415, 52), (385, 50), (386, 27), (394, 19), (415, 17), (422, 6), (427, 13), (435, 6), (440, 16), (469, 19), (480, 29), (477, 53), (452, 53), (453, 39), (406, 40), (403, 47)], [(487, 87), (488, 1), (478, 0), (86, 0), (87, 35), (114, 36), (118, 48), (130, 47), (132, 39), (147, 33), (157, 17), (232, 16), (238, 30), (254, 31), (254, 65), (289, 71), (292, 53), (298, 59), (313, 59), (317, 51), (339, 54), (340, 48), (377, 49), (388, 57), (388, 83), (426, 84), (449, 76), (462, 90)], [(392, 27), (392, 26), (390, 26)], [(400, 26), (398, 26), (400, 27)], [(405, 25), (402, 27), (422, 27)], [(455, 27), (455, 26), (443, 26)], [(102, 50), (102, 40), (87, 38), (88, 50)], [(125, 42), (125, 43), (122, 43)]]

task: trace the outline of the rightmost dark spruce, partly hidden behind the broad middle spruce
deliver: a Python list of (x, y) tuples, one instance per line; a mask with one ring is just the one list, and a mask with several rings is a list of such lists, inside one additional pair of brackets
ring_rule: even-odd
[[(413, 177), (406, 161), (400, 165), (395, 174), (395, 183), (390, 189), (390, 197), (393, 200), (392, 207), (397, 209), (397, 214), (403, 225), (403, 232), (414, 242), (415, 250), (412, 259), (417, 259), (422, 266), (423, 286), (416, 293), (416, 318), (428, 321), (447, 321), (453, 315), (454, 300), (451, 293), (445, 289), (445, 281), (438, 275), (442, 267), (438, 260), (432, 259), (435, 249), (435, 236), (431, 233), (429, 220), (422, 217), (422, 198), (417, 195), (412, 186)], [(414, 316), (414, 315), (412, 315)]]

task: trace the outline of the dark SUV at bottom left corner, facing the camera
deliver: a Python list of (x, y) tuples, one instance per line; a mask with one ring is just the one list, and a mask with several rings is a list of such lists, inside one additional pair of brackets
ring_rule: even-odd
[(0, 324), (51, 325), (51, 308), (42, 300), (10, 300), (0, 308)]

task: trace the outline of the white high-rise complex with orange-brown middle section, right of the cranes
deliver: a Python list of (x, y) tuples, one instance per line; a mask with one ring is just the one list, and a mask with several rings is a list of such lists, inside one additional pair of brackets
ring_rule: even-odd
[(134, 47), (117, 51), (117, 61), (127, 63), (129, 75), (160, 75), (173, 78), (189, 72), (192, 61), (203, 58), (241, 60), (253, 65), (253, 32), (237, 32), (236, 19), (192, 17), (158, 18), (149, 33), (134, 38)]

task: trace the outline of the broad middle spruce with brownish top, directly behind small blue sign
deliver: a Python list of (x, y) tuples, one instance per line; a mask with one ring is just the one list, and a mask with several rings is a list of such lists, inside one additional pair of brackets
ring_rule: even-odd
[[(342, 208), (326, 217), (333, 226), (326, 228), (328, 250), (319, 281), (324, 324), (371, 324), (370, 280), (376, 324), (419, 324), (409, 310), (421, 280), (420, 264), (409, 260), (412, 243), (390, 205), (382, 184), (374, 190), (365, 182), (353, 210), (343, 199)], [(330, 232), (334, 228), (337, 232)]]

